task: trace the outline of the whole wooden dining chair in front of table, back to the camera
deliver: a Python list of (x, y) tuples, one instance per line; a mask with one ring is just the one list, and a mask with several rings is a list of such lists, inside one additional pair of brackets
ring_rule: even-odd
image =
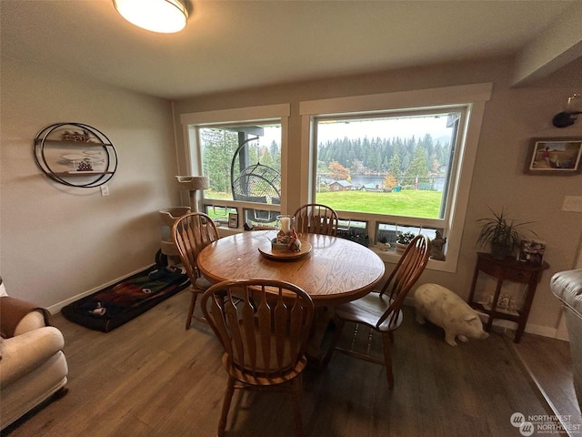
[(314, 314), (311, 297), (275, 279), (227, 280), (206, 290), (202, 310), (225, 350), (228, 372), (218, 435), (225, 432), (235, 390), (270, 389), (292, 393), (296, 435), (302, 436), (301, 375)]

